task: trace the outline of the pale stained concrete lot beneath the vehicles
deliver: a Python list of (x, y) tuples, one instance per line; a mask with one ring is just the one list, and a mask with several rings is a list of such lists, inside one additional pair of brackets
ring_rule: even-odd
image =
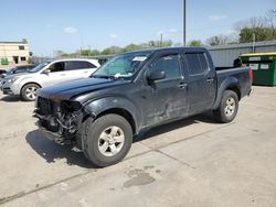
[(43, 138), (33, 102), (0, 99), (3, 206), (276, 206), (276, 88), (254, 87), (229, 124), (204, 113), (151, 129), (106, 168)]

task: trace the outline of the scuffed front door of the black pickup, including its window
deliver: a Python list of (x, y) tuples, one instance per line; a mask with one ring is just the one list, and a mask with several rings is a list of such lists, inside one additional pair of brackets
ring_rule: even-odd
[(188, 113), (185, 79), (180, 54), (162, 54), (150, 64), (147, 75), (164, 72), (166, 78), (148, 83), (144, 99), (145, 126), (179, 118)]

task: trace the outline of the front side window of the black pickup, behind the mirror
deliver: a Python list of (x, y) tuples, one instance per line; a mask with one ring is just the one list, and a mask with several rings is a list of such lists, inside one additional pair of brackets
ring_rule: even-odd
[(164, 72), (166, 79), (178, 78), (180, 76), (178, 55), (159, 57), (153, 62), (151, 72)]

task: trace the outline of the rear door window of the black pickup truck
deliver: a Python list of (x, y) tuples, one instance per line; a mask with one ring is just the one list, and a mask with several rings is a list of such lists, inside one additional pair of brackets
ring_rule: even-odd
[(185, 58), (190, 75), (200, 75), (209, 69), (204, 53), (187, 53)]

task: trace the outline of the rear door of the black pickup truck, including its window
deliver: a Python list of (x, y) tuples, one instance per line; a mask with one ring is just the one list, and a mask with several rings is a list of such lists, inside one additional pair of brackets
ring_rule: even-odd
[(216, 77), (206, 54), (204, 52), (185, 53), (184, 67), (189, 74), (189, 113), (194, 115), (211, 109), (216, 95)]

